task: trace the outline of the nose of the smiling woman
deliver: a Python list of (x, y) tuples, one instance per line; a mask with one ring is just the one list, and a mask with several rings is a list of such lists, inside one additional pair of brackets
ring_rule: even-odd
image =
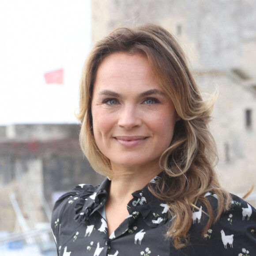
[(120, 112), (118, 125), (120, 127), (131, 130), (134, 127), (139, 127), (142, 123), (142, 119), (139, 115), (139, 111), (136, 106), (127, 105)]

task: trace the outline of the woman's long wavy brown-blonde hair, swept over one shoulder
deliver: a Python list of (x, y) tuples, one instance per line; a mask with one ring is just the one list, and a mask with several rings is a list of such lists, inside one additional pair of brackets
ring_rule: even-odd
[[(142, 53), (147, 57), (155, 77), (181, 118), (175, 125), (169, 148), (160, 158), (164, 175), (156, 188), (149, 185), (151, 192), (170, 206), (170, 215), (175, 218), (167, 236), (171, 237), (176, 248), (181, 248), (189, 243), (188, 231), (192, 224), (192, 212), (198, 209), (196, 203), (203, 203), (208, 215), (202, 235), (230, 206), (230, 194), (221, 188), (214, 170), (218, 156), (208, 128), (215, 97), (203, 101), (183, 50), (173, 35), (161, 26), (144, 24), (113, 30), (96, 42), (87, 57), (80, 81), (79, 112), (76, 115), (82, 123), (81, 148), (98, 173), (113, 177), (109, 159), (98, 149), (93, 135), (93, 85), (102, 60), (117, 52)], [(204, 197), (209, 191), (218, 196), (216, 214), (207, 197)]]

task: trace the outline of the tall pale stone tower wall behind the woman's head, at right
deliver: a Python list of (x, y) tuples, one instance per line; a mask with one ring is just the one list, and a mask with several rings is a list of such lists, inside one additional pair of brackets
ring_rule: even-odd
[[(117, 26), (145, 22), (177, 37), (202, 92), (218, 88), (211, 124), (217, 170), (224, 187), (244, 194), (256, 184), (256, 2), (92, 0), (93, 41)], [(256, 206), (255, 189), (251, 198)]]

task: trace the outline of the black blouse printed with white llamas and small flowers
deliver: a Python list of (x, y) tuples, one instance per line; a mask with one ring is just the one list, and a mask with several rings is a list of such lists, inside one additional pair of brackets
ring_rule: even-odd
[[(256, 209), (237, 196), (203, 237), (207, 215), (199, 206), (192, 214), (190, 245), (177, 250), (165, 237), (172, 222), (168, 206), (146, 186), (132, 194), (129, 216), (108, 236), (104, 205), (110, 182), (80, 184), (56, 202), (52, 230), (58, 256), (256, 256)], [(215, 209), (216, 195), (205, 196)]]

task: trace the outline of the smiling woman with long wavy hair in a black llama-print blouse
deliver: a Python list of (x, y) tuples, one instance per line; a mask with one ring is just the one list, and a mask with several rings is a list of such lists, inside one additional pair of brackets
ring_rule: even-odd
[(58, 255), (256, 255), (256, 210), (214, 171), (203, 101), (171, 34), (146, 24), (98, 41), (83, 68), (80, 144), (95, 171), (53, 210)]

